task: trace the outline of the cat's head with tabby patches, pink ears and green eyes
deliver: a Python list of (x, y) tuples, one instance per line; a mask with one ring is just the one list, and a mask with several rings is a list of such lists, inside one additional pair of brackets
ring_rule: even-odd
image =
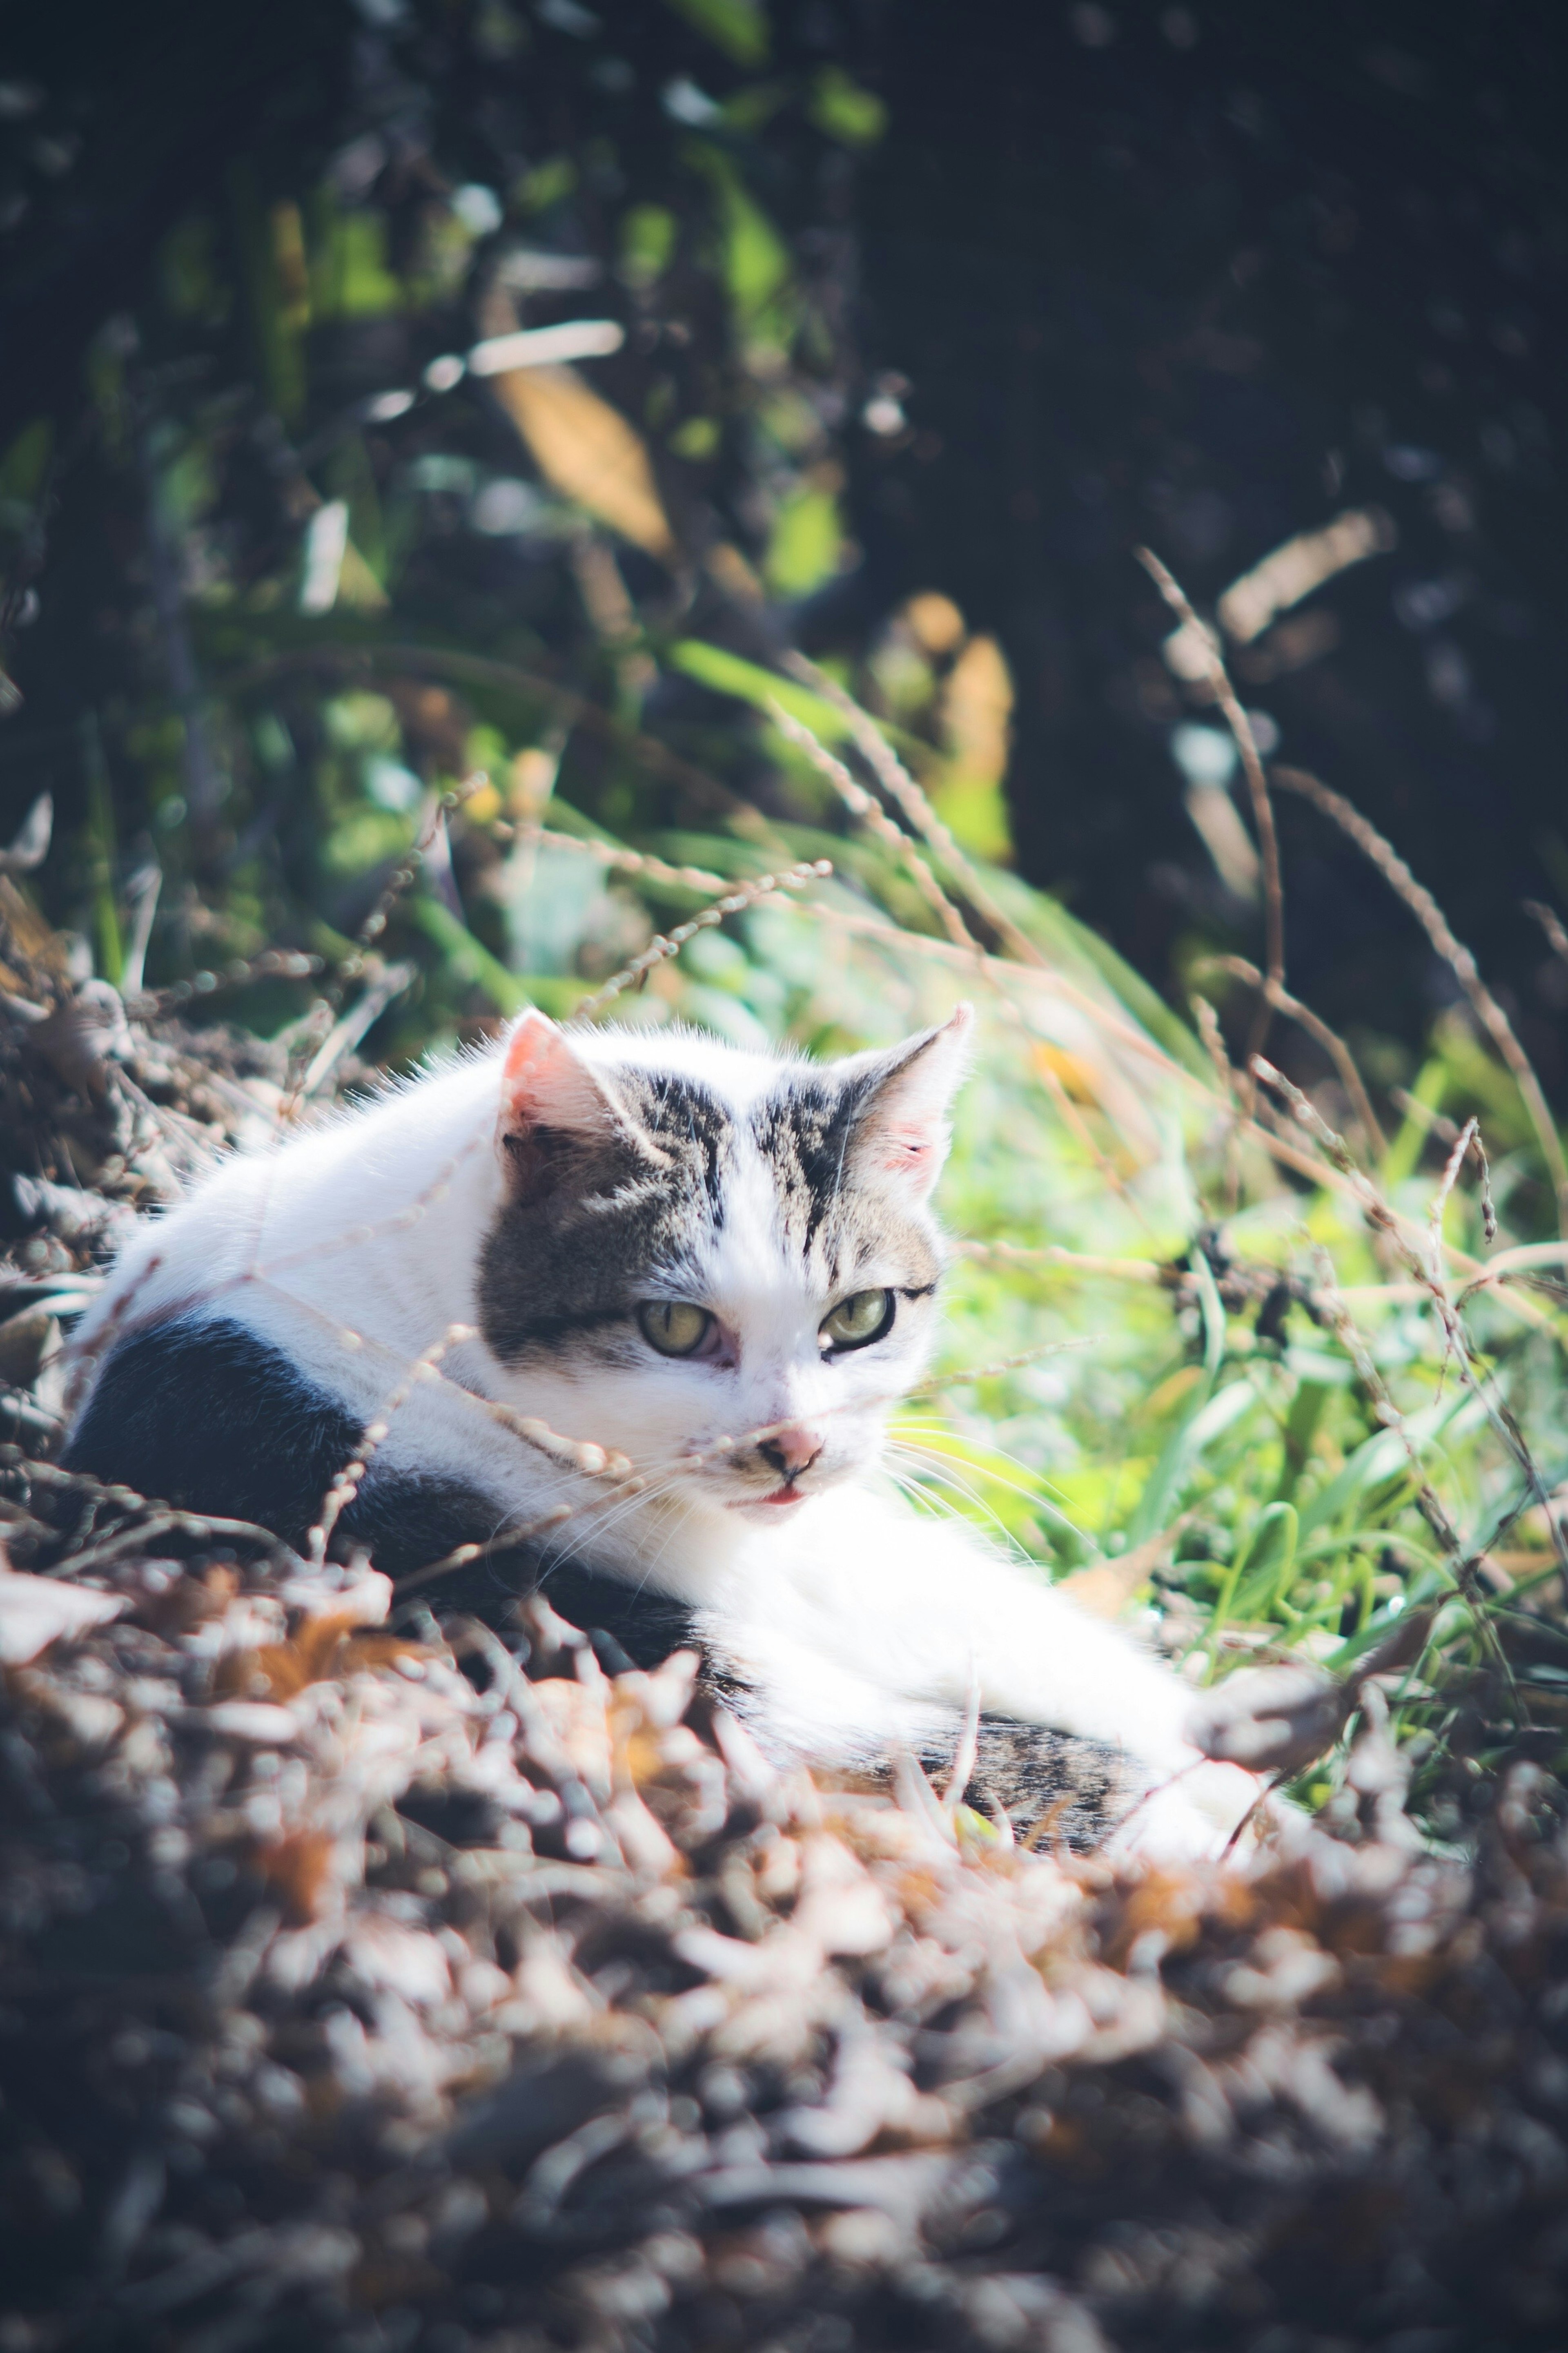
[(969, 1019), (809, 1064), (524, 1014), (480, 1254), (517, 1402), (757, 1522), (875, 1461), (931, 1346)]

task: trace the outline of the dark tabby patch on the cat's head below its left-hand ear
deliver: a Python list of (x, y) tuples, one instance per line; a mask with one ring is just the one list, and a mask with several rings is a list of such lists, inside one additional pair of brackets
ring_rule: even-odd
[[(480, 1322), (503, 1365), (567, 1332), (625, 1325), (649, 1278), (724, 1224), (731, 1120), (684, 1078), (616, 1073), (630, 1129), (583, 1141), (531, 1132), (480, 1252)], [(614, 1346), (614, 1339), (611, 1339)]]

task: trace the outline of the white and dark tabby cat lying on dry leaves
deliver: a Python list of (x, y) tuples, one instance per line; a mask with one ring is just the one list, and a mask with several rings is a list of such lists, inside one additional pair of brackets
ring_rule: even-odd
[(393, 1574), (484, 1546), (465, 1600), (522, 1555), (607, 1664), (693, 1642), (785, 1765), (947, 1772), (978, 1706), (973, 1802), (1222, 1852), (1260, 1784), (1190, 1746), (1192, 1689), (879, 1473), (969, 1021), (813, 1066), (524, 1012), (148, 1221), (63, 1459), (299, 1548), (336, 1513)]

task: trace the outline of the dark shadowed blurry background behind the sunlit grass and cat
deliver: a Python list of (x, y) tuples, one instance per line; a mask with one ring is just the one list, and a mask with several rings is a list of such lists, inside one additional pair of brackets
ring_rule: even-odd
[[(1208, 612), (1356, 508), (1385, 553), (1237, 647), (1239, 685), (1432, 885), (1561, 1096), (1568, 965), (1523, 913), (1568, 908), (1561, 66), (1533, 0), (12, 12), (0, 791), (12, 821), (56, 795), (52, 913), (113, 962), (103, 892), (155, 856), (162, 981), (219, 953), (193, 906), (230, 955), (353, 929), (397, 852), (367, 760), (430, 779), (475, 725), (559, 718), (397, 645), (597, 701), (564, 760), (607, 824), (712, 819), (637, 729), (816, 819), (672, 659), (795, 640), (1180, 1002), (1260, 927), (1187, 814), (1206, 760), (1237, 779), (1133, 548)], [(583, 315), (628, 329), (555, 419), (632, 428), (597, 506), (494, 379), (421, 379)], [(301, 612), (322, 504), (348, 558)], [(343, 741), (350, 647), (397, 741)], [(1312, 809), (1281, 828), (1291, 986), (1399, 1082), (1450, 974)], [(423, 1026), (473, 995), (421, 986)]]

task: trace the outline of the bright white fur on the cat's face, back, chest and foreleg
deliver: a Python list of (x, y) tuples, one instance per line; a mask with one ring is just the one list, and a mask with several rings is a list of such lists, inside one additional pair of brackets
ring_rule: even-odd
[[(670, 1031), (581, 1033), (571, 1052), (597, 1071), (701, 1078), (738, 1113), (783, 1071)], [(287, 1351), (374, 1421), (433, 1344), (480, 1322), (477, 1247), (505, 1186), (503, 1054), (494, 1047), (393, 1085), (230, 1158), (125, 1249), (80, 1334), (87, 1358), (122, 1332), (207, 1311)], [(952, 1078), (957, 1068), (943, 1099)], [(926, 1144), (943, 1108), (926, 1099), (931, 1085), (912, 1101)], [(910, 1148), (912, 1198), (929, 1191), (943, 1146), (945, 1134), (917, 1169), (922, 1146)], [(952, 1711), (978, 1689), (987, 1711), (1121, 1744), (1138, 1760), (1154, 1795), (1124, 1847), (1218, 1852), (1258, 1784), (1190, 1748), (1187, 1685), (1037, 1572), (957, 1520), (914, 1513), (882, 1480), (884, 1417), (924, 1369), (929, 1318), (900, 1318), (886, 1344), (825, 1360), (816, 1334), (835, 1301), (809, 1297), (759, 1160), (741, 1165), (726, 1207), (703, 1280), (705, 1304), (741, 1334), (736, 1362), (715, 1369), (649, 1351), (644, 1367), (592, 1379), (569, 1365), (517, 1374), (482, 1339), (461, 1339), (440, 1377), (416, 1379), (390, 1414), (378, 1464), (477, 1487), (494, 1497), (496, 1527), (567, 1504), (562, 1548), (691, 1605), (705, 1638), (757, 1687), (755, 1729), (780, 1760), (853, 1767), (891, 1744), (929, 1746), (940, 1727), (950, 1737)], [(856, 1287), (879, 1282), (898, 1282), (898, 1268), (867, 1264), (856, 1275)], [(625, 1452), (646, 1489), (628, 1497), (564, 1468), (489, 1417), (477, 1402), (487, 1398)], [(719, 1440), (785, 1421), (811, 1421), (825, 1452), (806, 1501), (780, 1511), (757, 1499), (757, 1464)]]

